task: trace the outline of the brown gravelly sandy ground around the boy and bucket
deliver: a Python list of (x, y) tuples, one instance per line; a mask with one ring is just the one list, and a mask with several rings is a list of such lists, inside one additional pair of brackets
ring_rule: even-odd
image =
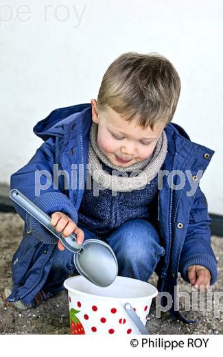
[[(0, 214), (0, 290), (10, 284), (10, 262), (12, 254), (16, 251), (21, 241), (23, 232), (23, 220), (18, 214)], [(181, 321), (169, 319), (169, 314), (163, 312), (160, 318), (155, 317), (156, 301), (152, 303), (150, 315), (146, 327), (149, 334), (223, 334), (223, 301), (218, 292), (223, 291), (223, 239), (213, 236), (213, 249), (218, 259), (218, 281), (212, 289), (211, 303), (215, 308), (211, 310), (206, 303), (200, 311), (185, 311), (185, 299), (180, 299), (180, 310), (188, 319), (198, 322), (186, 324)], [(156, 275), (152, 275), (149, 282), (156, 285)], [(187, 291), (191, 295), (191, 286), (178, 278), (180, 291)], [(222, 293), (223, 295), (223, 293)], [(223, 300), (223, 297), (222, 297)], [(192, 300), (191, 300), (192, 301)], [(220, 306), (218, 308), (218, 301)], [(199, 306), (199, 305), (198, 305)], [(211, 311), (210, 311), (211, 310)], [(220, 311), (221, 310), (221, 311)], [(60, 292), (57, 297), (49, 299), (32, 310), (15, 310), (3, 306), (0, 300), (0, 334), (69, 334), (69, 308), (67, 302), (67, 290)]]

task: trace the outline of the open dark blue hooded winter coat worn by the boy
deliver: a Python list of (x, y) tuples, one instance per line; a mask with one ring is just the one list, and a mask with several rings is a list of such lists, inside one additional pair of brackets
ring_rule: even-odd
[[(86, 164), (88, 162), (89, 129), (91, 127), (91, 103), (58, 108), (34, 126), (34, 133), (45, 142), (36, 150), (34, 157), (11, 176), (11, 189), (19, 189), (25, 196), (43, 208), (47, 214), (62, 211), (78, 222), (78, 209), (84, 193)], [(187, 267), (199, 264), (211, 272), (211, 284), (217, 279), (217, 262), (211, 249), (211, 219), (208, 214), (207, 200), (199, 185), (193, 196), (187, 196), (191, 185), (187, 170), (198, 176), (198, 170), (204, 172), (214, 151), (190, 141), (185, 130), (170, 123), (165, 128), (168, 148), (161, 170), (171, 173), (180, 170), (185, 174), (185, 185), (174, 189), (180, 183), (180, 176), (163, 176), (163, 188), (159, 189), (159, 229), (165, 245), (165, 257), (162, 266), (158, 266), (159, 291), (167, 291), (174, 297), (178, 272), (187, 278)], [(36, 170), (47, 170), (53, 176), (53, 165), (58, 163), (58, 170), (67, 170), (71, 178), (71, 165), (84, 164), (84, 172), (76, 170), (78, 188), (66, 187), (64, 176), (60, 175), (58, 189), (54, 182), (40, 196), (35, 196), (34, 176)], [(73, 166), (74, 168), (74, 166)], [(41, 184), (46, 180), (41, 177)], [(7, 301), (22, 299), (30, 303), (34, 295), (43, 287), (51, 268), (57, 245), (40, 242), (38, 237), (50, 236), (34, 218), (14, 203), (19, 216), (24, 220), (23, 240), (12, 257), (12, 279), (14, 288)]]

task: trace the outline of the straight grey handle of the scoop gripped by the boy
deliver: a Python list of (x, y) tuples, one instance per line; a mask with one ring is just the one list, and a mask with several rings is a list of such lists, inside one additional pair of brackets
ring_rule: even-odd
[(18, 189), (12, 189), (10, 191), (10, 198), (14, 200), (19, 206), (21, 206), (25, 211), (31, 214), (38, 222), (43, 224), (45, 228), (51, 233), (56, 235), (60, 242), (73, 253), (77, 253), (82, 249), (82, 246), (77, 243), (77, 238), (75, 233), (68, 235), (66, 238), (62, 237), (61, 233), (58, 233), (56, 229), (51, 225), (51, 218), (42, 209), (32, 203), (29, 198), (24, 196)]

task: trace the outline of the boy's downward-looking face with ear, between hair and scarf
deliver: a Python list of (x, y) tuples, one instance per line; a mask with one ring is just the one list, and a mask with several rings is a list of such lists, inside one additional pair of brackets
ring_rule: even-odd
[(98, 124), (97, 144), (111, 163), (128, 168), (152, 155), (165, 124), (155, 124), (154, 130), (143, 129), (134, 120), (121, 119), (111, 108), (98, 113), (95, 100), (91, 104), (93, 122)]

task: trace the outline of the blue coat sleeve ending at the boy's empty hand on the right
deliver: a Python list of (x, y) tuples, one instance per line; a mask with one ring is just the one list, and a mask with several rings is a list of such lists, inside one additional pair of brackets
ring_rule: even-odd
[(198, 186), (189, 215), (189, 225), (178, 269), (183, 279), (188, 282), (187, 268), (195, 264), (209, 269), (211, 273), (211, 285), (217, 279), (217, 260), (211, 248), (210, 223), (211, 219), (208, 214), (207, 199)]

